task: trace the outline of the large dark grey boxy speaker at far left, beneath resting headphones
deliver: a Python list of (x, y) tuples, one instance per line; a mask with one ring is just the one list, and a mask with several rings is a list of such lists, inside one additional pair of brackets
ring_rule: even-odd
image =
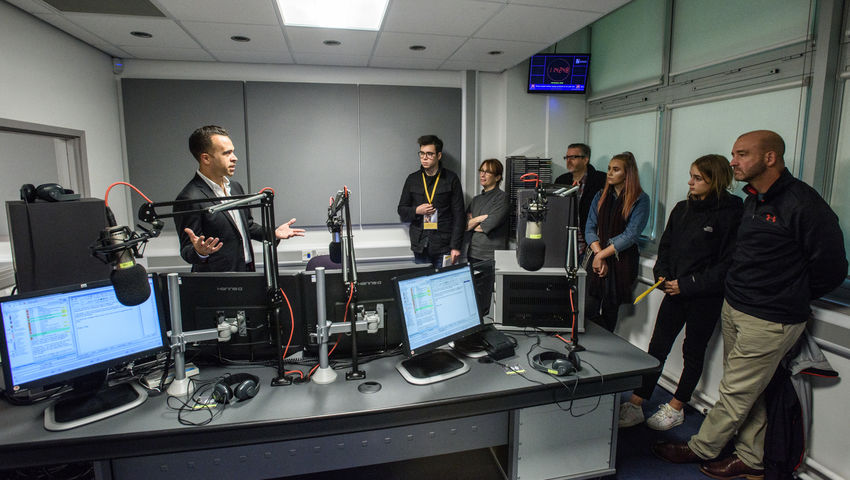
[(106, 228), (103, 200), (13, 200), (6, 214), (19, 292), (109, 279), (112, 266), (89, 249)]

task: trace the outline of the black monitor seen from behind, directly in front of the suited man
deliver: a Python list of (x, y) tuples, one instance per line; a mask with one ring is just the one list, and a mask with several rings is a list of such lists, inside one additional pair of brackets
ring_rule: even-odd
[[(280, 274), (278, 286), (292, 306), (280, 308), (281, 342), (286, 346), (294, 327), (289, 352), (301, 344), (302, 315), (297, 273)], [(261, 272), (185, 272), (178, 274), (183, 331), (235, 327), (222, 341), (205, 340), (191, 347), (187, 361), (205, 364), (267, 362), (277, 359), (274, 319), (269, 318), (265, 275)], [(293, 325), (294, 324), (294, 325)], [(227, 337), (229, 335), (229, 338)]]

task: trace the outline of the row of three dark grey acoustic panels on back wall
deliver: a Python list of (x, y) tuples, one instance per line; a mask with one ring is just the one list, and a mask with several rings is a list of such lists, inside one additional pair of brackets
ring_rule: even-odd
[(343, 185), (354, 223), (398, 223), (420, 135), (442, 138), (444, 165), (461, 173), (459, 88), (125, 79), (122, 90), (130, 182), (153, 201), (172, 200), (192, 176), (187, 140), (207, 124), (231, 132), (234, 179), (275, 190), (278, 223), (323, 226)]

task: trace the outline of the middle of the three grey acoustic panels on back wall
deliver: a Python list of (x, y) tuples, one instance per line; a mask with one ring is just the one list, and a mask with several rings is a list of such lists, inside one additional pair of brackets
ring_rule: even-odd
[(275, 189), (278, 223), (324, 226), (328, 197), (343, 185), (359, 194), (357, 87), (248, 82), (245, 92), (252, 188)]

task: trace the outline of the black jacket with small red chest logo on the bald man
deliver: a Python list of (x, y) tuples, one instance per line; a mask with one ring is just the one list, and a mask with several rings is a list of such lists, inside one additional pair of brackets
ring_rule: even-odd
[(847, 275), (838, 217), (818, 192), (786, 169), (763, 195), (747, 199), (726, 278), (726, 301), (748, 315), (778, 323), (809, 318), (809, 302)]

